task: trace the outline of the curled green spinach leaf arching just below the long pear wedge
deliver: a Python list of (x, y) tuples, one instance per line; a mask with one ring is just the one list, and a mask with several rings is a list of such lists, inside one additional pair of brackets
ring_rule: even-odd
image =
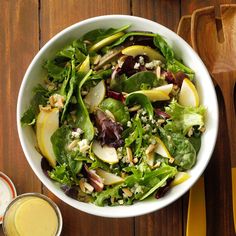
[(148, 97), (145, 96), (144, 94), (139, 93), (139, 92), (131, 93), (127, 96), (125, 103), (126, 103), (126, 105), (137, 104), (137, 103), (140, 104), (142, 106), (142, 108), (144, 108), (147, 111), (147, 113), (149, 115), (149, 119), (153, 118), (152, 103), (150, 102)]

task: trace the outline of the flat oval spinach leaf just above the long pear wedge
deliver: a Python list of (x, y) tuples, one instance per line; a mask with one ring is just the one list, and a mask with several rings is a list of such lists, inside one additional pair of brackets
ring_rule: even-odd
[(150, 71), (141, 71), (122, 82), (122, 91), (131, 93), (141, 90), (144, 84), (153, 87), (157, 83), (157, 76)]

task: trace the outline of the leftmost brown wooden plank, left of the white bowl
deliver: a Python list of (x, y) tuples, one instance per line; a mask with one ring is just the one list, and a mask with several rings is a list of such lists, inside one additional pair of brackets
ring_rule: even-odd
[(38, 1), (4, 0), (0, 9), (0, 171), (12, 179), (18, 194), (40, 192), (41, 183), (24, 157), (16, 128), (19, 87), (39, 47)]

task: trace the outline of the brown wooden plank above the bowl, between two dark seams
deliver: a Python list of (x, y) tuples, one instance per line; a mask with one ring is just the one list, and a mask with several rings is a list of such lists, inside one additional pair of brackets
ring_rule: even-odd
[(109, 14), (130, 14), (128, 0), (42, 0), (40, 6), (41, 45), (62, 29), (81, 20)]

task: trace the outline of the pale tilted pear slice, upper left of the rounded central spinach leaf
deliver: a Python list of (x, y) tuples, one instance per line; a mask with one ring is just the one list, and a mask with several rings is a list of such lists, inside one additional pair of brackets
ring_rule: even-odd
[(103, 101), (106, 94), (106, 86), (104, 80), (101, 80), (95, 87), (89, 90), (84, 98), (84, 102), (89, 106), (91, 112)]

